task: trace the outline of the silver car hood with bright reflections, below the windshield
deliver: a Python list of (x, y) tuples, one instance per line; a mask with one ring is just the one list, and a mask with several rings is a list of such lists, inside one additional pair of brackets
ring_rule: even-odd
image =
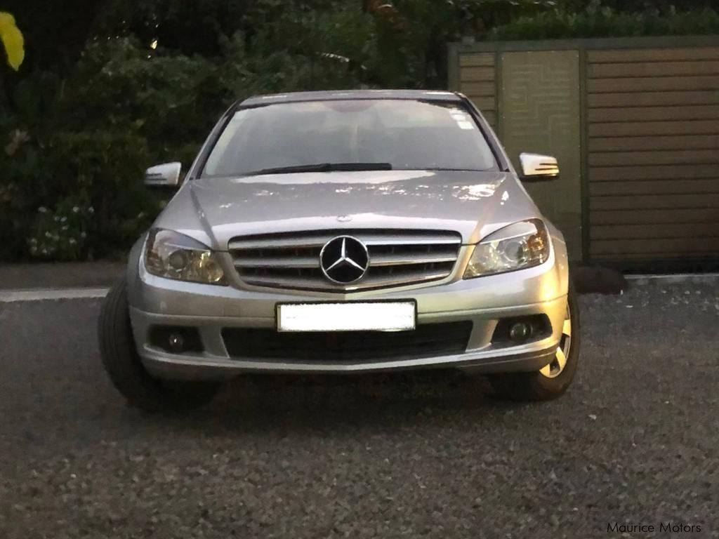
[(310, 172), (192, 180), (155, 226), (224, 251), (250, 234), (451, 230), (465, 244), (539, 211), (508, 172)]

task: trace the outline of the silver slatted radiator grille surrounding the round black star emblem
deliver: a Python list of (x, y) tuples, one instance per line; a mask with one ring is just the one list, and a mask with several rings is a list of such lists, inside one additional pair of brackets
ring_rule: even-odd
[[(331, 282), (320, 267), (322, 248), (337, 236), (359, 239), (370, 255), (365, 276), (348, 285)], [(249, 285), (346, 292), (444, 279), (461, 245), (451, 231), (339, 230), (244, 236), (229, 241), (229, 252)]]

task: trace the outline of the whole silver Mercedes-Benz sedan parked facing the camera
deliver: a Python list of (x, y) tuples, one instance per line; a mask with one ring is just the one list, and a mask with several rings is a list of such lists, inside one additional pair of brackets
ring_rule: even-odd
[[(131, 405), (208, 402), (244, 372), (452, 368), (498, 395), (562, 395), (579, 315), (562, 234), (457, 93), (341, 91), (232, 106), (137, 241), (99, 321)], [(181, 185), (180, 185), (181, 184)], [(557, 193), (560, 196), (560, 193)]]

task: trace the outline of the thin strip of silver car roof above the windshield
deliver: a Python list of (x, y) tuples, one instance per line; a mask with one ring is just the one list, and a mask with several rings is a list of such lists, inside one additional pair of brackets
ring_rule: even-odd
[(459, 94), (434, 90), (338, 90), (275, 93), (267, 96), (254, 96), (239, 103), (240, 107), (262, 106), (275, 103), (300, 103), (303, 101), (339, 101), (354, 99), (398, 99), (431, 100), (459, 102)]

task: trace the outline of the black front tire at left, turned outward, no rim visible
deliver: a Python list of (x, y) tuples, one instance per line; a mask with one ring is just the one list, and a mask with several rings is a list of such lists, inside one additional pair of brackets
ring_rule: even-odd
[(107, 374), (132, 407), (148, 412), (188, 411), (210, 402), (219, 384), (168, 382), (150, 376), (137, 354), (123, 278), (108, 292), (98, 323), (100, 355)]

